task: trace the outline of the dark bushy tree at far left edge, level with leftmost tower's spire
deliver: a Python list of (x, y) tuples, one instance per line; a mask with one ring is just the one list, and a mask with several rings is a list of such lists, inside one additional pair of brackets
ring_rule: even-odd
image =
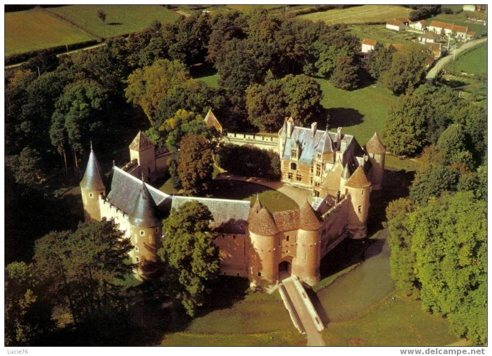
[(24, 147), (20, 155), (8, 156), (5, 159), (5, 163), (14, 172), (15, 181), (31, 188), (46, 180), (41, 171), (40, 161), (37, 151), (29, 147)]

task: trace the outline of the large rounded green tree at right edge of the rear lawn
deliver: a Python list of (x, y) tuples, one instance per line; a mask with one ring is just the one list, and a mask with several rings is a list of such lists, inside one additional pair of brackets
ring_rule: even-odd
[(388, 111), (383, 129), (386, 149), (396, 155), (415, 156), (428, 143), (427, 123), (433, 115), (423, 97), (405, 95)]

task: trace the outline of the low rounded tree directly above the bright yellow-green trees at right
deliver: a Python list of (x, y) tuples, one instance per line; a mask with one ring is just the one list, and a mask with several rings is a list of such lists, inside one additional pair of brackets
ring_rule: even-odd
[(431, 167), (418, 173), (410, 187), (410, 197), (416, 204), (424, 205), (430, 197), (439, 197), (443, 192), (454, 192), (459, 173), (446, 166)]

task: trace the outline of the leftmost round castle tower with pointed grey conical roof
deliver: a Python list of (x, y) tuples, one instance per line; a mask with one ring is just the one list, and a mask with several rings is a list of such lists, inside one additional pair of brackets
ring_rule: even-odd
[(101, 167), (94, 151), (89, 154), (89, 162), (84, 173), (84, 178), (80, 182), (80, 193), (82, 194), (82, 204), (84, 205), (84, 220), (86, 222), (100, 221), (101, 210), (99, 208), (99, 194), (106, 194), (106, 189), (102, 183)]

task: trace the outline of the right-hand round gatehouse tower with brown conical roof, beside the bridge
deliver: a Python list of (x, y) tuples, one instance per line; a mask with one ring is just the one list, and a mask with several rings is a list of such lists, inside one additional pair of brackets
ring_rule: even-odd
[(316, 212), (307, 201), (299, 209), (299, 229), (297, 232), (297, 253), (292, 260), (292, 274), (299, 276), (310, 286), (319, 281), (319, 262), (321, 259), (321, 223)]

